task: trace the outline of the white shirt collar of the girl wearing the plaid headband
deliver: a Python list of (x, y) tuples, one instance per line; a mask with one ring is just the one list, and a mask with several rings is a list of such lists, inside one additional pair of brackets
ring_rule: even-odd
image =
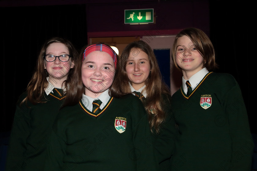
[(92, 111), (93, 110), (92, 103), (94, 100), (97, 100), (97, 99), (101, 100), (102, 104), (100, 105), (100, 109), (102, 109), (108, 103), (110, 98), (111, 98), (111, 96), (109, 96), (109, 89), (107, 89), (104, 92), (102, 92), (102, 94), (98, 98), (92, 98), (92, 97), (89, 97), (89, 96), (83, 94), (82, 95), (82, 103), (89, 111)]

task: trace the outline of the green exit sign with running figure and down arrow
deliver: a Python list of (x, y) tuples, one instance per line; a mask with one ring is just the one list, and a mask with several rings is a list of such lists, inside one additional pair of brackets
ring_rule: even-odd
[(153, 23), (154, 9), (125, 9), (125, 24)]

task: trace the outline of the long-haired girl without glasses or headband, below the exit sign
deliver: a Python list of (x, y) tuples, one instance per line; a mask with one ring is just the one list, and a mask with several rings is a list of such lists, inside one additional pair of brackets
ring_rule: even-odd
[(121, 54), (119, 88), (123, 93), (138, 92), (147, 111), (154, 135), (154, 147), (159, 169), (169, 166), (177, 133), (170, 107), (170, 93), (162, 81), (157, 59), (151, 47), (143, 41), (128, 44)]

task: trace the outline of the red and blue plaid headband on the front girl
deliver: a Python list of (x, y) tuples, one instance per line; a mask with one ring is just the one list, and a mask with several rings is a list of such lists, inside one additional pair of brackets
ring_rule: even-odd
[(95, 44), (95, 45), (88, 46), (83, 53), (82, 62), (84, 61), (86, 56), (88, 56), (89, 53), (94, 52), (94, 51), (103, 51), (103, 52), (108, 53), (112, 57), (114, 64), (115, 64), (115, 69), (116, 69), (116, 65), (117, 65), (116, 53), (114, 52), (114, 50), (112, 48), (110, 48), (106, 45), (103, 45), (103, 44)]

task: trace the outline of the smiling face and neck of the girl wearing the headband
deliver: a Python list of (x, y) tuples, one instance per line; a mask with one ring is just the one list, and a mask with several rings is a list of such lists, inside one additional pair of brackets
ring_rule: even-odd
[(112, 57), (103, 51), (88, 54), (82, 62), (81, 75), (85, 95), (99, 97), (103, 91), (110, 88), (115, 74), (115, 64)]

